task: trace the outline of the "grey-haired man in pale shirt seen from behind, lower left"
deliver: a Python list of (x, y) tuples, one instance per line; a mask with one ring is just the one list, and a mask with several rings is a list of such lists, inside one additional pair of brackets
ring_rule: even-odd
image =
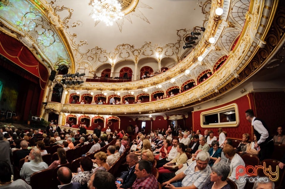
[[(28, 162), (30, 160), (30, 162)], [(25, 163), (20, 170), (21, 178), (30, 184), (30, 177), (34, 172), (47, 169), (48, 165), (42, 161), (41, 152), (37, 148), (32, 148), (29, 156), (25, 157)]]

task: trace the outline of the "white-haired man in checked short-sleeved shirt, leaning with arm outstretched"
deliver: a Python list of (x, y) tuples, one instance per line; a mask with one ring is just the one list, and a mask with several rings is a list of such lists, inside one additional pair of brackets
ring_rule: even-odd
[[(202, 188), (208, 182), (212, 173), (211, 167), (208, 165), (209, 160), (209, 153), (201, 151), (198, 153), (196, 161), (193, 161), (186, 170), (163, 182), (162, 186), (166, 186), (166, 188), (187, 186)], [(181, 179), (183, 179), (182, 182), (179, 181)]]

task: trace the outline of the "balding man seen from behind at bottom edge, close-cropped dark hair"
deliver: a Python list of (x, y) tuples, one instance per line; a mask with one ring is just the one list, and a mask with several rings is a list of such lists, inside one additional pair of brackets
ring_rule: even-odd
[(61, 189), (78, 189), (81, 187), (78, 182), (71, 182), (72, 172), (67, 167), (61, 167), (57, 171), (57, 180), (60, 182), (58, 188)]

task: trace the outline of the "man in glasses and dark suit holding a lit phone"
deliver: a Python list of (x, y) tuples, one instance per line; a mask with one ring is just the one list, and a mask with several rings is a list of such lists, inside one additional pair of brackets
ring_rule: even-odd
[(129, 165), (130, 170), (129, 172), (124, 174), (122, 178), (117, 179), (117, 181), (121, 182), (121, 184), (118, 183), (117, 181), (115, 182), (117, 188), (131, 188), (132, 187), (134, 181), (137, 179), (136, 174), (134, 174), (134, 168), (138, 161), (139, 161), (139, 158), (137, 157), (135, 153), (129, 153), (126, 156), (126, 163)]

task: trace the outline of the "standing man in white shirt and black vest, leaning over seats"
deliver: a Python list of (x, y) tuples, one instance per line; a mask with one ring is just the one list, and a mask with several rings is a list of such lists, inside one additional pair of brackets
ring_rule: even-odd
[(260, 147), (259, 158), (260, 161), (269, 159), (274, 150), (273, 138), (270, 135), (269, 129), (264, 121), (254, 116), (253, 110), (246, 110), (246, 119), (251, 123), (254, 129), (257, 143), (254, 147)]

